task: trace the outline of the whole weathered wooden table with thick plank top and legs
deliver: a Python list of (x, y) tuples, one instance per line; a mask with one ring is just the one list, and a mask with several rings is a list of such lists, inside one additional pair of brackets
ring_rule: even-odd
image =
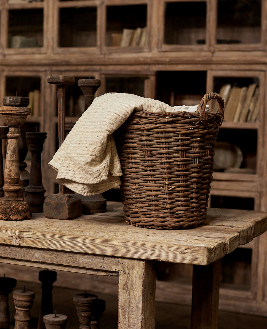
[(107, 209), (74, 220), (33, 214), (0, 221), (0, 262), (119, 275), (119, 329), (154, 328), (156, 273), (173, 263), (193, 264), (191, 327), (216, 329), (220, 258), (264, 233), (267, 214), (209, 208), (200, 227), (168, 231), (128, 225), (121, 203), (109, 202)]

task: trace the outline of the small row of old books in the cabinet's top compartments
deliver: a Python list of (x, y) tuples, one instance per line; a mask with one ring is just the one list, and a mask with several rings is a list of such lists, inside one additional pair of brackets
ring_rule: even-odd
[(146, 45), (146, 27), (134, 29), (123, 29), (122, 33), (112, 33), (113, 47), (136, 47)]

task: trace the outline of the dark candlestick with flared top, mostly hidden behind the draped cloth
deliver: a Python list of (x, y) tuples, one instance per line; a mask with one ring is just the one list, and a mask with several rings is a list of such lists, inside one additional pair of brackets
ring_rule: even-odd
[[(78, 80), (78, 86), (82, 89), (85, 96), (85, 110), (92, 104), (94, 94), (100, 85), (100, 80), (97, 79)], [(107, 211), (107, 200), (101, 193), (90, 196), (75, 194), (82, 200), (83, 214), (105, 213)]]

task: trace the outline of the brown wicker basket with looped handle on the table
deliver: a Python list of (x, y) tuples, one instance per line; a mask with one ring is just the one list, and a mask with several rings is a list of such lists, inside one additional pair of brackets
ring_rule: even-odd
[[(212, 98), (217, 99), (217, 113), (205, 111)], [(173, 230), (205, 220), (223, 108), (222, 97), (208, 93), (197, 112), (134, 111), (117, 130), (121, 195), (129, 224)]]

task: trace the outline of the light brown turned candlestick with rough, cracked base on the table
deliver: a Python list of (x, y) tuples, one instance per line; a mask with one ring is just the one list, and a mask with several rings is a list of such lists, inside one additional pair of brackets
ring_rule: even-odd
[(30, 219), (31, 212), (28, 204), (18, 197), (20, 186), (19, 163), (18, 163), (18, 139), (19, 128), (23, 125), (31, 109), (26, 107), (0, 107), (5, 124), (9, 127), (8, 148), (6, 156), (5, 184), (3, 190), (5, 196), (0, 199), (0, 219), (2, 220), (22, 220)]

